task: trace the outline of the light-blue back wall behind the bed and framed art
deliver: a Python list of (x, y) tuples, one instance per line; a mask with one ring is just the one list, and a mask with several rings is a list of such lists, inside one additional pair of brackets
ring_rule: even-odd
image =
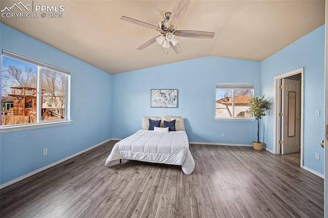
[[(254, 121), (214, 119), (216, 83), (233, 82), (254, 83), (259, 95), (260, 62), (210, 56), (115, 74), (112, 138), (141, 129), (142, 116), (178, 115), (186, 118), (189, 141), (252, 144)], [(150, 107), (151, 89), (177, 89), (178, 108)]]

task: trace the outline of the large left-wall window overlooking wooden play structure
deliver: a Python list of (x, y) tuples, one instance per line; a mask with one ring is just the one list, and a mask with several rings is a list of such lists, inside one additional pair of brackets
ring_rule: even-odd
[(3, 51), (1, 127), (69, 120), (70, 72)]

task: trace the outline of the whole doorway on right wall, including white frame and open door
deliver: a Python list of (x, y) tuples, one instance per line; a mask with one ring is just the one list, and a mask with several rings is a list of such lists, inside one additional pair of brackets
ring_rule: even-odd
[(303, 166), (303, 68), (274, 78), (274, 151)]

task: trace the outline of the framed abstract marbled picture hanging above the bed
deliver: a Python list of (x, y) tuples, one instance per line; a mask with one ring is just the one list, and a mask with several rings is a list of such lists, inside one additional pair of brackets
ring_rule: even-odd
[(151, 107), (178, 107), (178, 90), (151, 90)]

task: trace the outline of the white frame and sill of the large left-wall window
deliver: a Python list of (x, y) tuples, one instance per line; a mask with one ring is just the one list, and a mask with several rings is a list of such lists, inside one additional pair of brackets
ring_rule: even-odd
[[(9, 57), (16, 59), (18, 61), (30, 63), (37, 68), (37, 80), (36, 80), (36, 122), (35, 123), (25, 123), (25, 124), (14, 124), (14, 125), (0, 125), (0, 133), (7, 133), (19, 130), (33, 129), (46, 126), (55, 126), (71, 123), (70, 117), (70, 71), (52, 66), (51, 64), (44, 63), (23, 55), (19, 55), (7, 50), (2, 50), (2, 61), (3, 57)], [(2, 62), (1, 62), (2, 64)], [(40, 90), (42, 89), (42, 69), (49, 69), (65, 75), (65, 118), (60, 120), (42, 120), (42, 95), (40, 95)], [(1, 91), (0, 91), (1, 92)], [(2, 93), (2, 92), (1, 92)], [(1, 119), (0, 114), (0, 119)]]

